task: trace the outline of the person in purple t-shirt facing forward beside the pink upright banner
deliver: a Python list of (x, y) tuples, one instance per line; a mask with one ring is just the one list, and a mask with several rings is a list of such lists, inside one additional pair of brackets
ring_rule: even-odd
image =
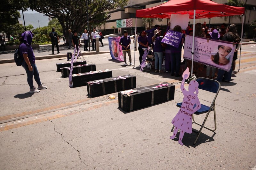
[(122, 46), (122, 50), (123, 50), (123, 53), (124, 53), (124, 65), (125, 65), (125, 66), (128, 65), (128, 64), (126, 63), (126, 53), (127, 53), (128, 56), (129, 56), (130, 65), (133, 65), (133, 64), (132, 64), (132, 56), (131, 56), (131, 48), (130, 48), (131, 39), (130, 39), (130, 37), (128, 36), (128, 31), (127, 31), (127, 30), (124, 30), (124, 36), (122, 36), (122, 37), (120, 38), (119, 45)]

